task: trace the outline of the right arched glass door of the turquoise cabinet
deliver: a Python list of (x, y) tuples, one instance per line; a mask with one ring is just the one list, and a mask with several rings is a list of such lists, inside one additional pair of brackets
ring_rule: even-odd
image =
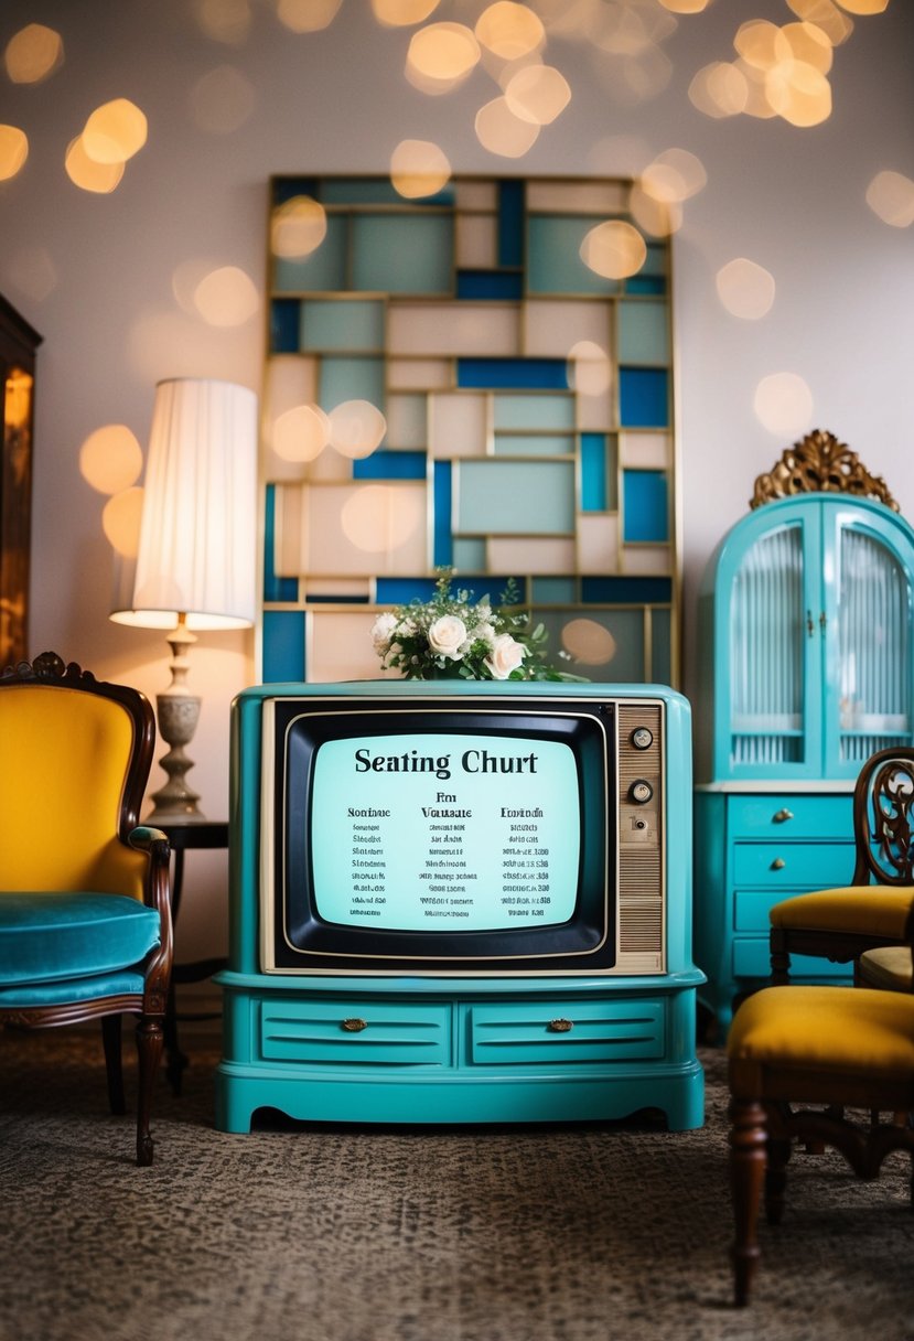
[(898, 543), (838, 519), (827, 774), (856, 776), (874, 751), (911, 743), (911, 585)]

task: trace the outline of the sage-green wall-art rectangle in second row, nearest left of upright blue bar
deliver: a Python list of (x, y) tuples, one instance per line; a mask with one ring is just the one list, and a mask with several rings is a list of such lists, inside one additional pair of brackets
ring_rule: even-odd
[(452, 296), (453, 216), (354, 216), (352, 288), (379, 294)]

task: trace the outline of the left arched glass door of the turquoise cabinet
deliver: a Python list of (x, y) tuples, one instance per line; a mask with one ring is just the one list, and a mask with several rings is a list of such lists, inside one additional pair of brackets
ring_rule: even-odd
[(809, 519), (760, 535), (734, 577), (729, 629), (730, 766), (752, 776), (818, 768), (818, 713), (807, 713), (811, 658)]

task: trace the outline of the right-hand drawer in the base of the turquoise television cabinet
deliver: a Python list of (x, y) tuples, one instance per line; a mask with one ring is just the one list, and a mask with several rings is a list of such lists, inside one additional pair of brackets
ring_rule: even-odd
[(552, 1000), (470, 1006), (470, 1061), (629, 1061), (663, 1055), (663, 1006), (651, 1000)]

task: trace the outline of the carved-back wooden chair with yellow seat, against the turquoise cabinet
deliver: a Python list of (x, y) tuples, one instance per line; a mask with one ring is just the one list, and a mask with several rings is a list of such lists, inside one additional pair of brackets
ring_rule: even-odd
[(871, 755), (854, 789), (856, 860), (850, 885), (795, 894), (769, 911), (775, 986), (789, 982), (792, 955), (856, 964), (864, 951), (909, 943), (913, 809), (914, 750), (897, 746)]

